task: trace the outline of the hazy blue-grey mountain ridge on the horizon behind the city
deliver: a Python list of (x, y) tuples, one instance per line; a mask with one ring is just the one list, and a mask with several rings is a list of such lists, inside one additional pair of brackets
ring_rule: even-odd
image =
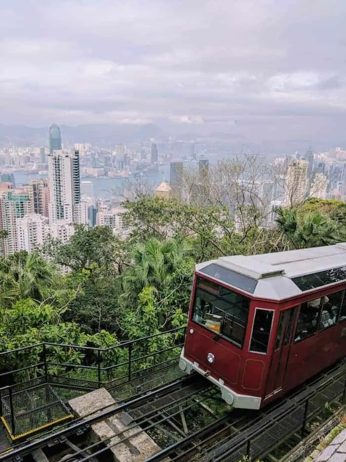
[[(52, 123), (55, 122), (52, 120)], [(262, 130), (263, 128), (263, 130)], [(340, 137), (331, 140), (315, 134), (314, 139), (292, 137), (283, 133), (265, 132), (264, 126), (256, 127), (248, 121), (212, 121), (193, 117), (171, 117), (155, 119), (153, 123), (113, 123), (88, 125), (60, 125), (63, 144), (91, 143), (94, 146), (111, 148), (116, 143), (147, 142), (150, 138), (165, 142), (169, 137), (177, 140), (205, 142), (221, 147), (224, 153), (265, 153), (269, 155), (306, 152), (309, 146), (314, 150), (328, 150), (333, 146), (346, 146)], [(270, 127), (269, 127), (270, 128)], [(48, 129), (31, 128), (23, 125), (0, 124), (0, 147), (5, 146), (48, 146)], [(281, 135), (281, 136), (280, 136)], [(296, 136), (295, 136), (296, 135)], [(338, 140), (338, 141), (337, 141)]]

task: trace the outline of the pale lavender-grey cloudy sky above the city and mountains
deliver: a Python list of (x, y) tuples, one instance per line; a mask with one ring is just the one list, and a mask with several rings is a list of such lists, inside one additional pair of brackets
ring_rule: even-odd
[(342, 137), (345, 18), (345, 0), (2, 0), (0, 123)]

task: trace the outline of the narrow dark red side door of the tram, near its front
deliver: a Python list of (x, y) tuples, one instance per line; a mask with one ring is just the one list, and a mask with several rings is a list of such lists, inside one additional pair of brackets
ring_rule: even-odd
[(297, 307), (294, 307), (285, 309), (280, 313), (265, 396), (271, 395), (283, 387), (296, 311)]

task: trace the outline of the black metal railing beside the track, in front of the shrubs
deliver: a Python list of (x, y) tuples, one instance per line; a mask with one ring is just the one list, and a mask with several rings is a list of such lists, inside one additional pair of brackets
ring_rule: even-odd
[[(145, 381), (149, 374), (176, 361), (184, 333), (185, 328), (179, 327), (108, 348), (43, 342), (2, 352), (0, 370), (4, 371), (0, 373), (0, 385), (4, 386), (0, 388), (0, 419), (15, 439), (23, 433), (18, 425), (23, 416), (25, 425), (29, 425), (29, 420), (37, 423), (35, 402), (40, 401), (37, 395), (47, 385), (87, 392)], [(32, 397), (28, 397), (29, 391), (34, 393)], [(23, 405), (24, 394), (26, 405)]]

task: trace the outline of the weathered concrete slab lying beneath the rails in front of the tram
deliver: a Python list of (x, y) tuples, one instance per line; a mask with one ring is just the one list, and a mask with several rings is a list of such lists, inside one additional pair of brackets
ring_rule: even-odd
[[(80, 417), (97, 415), (105, 406), (108, 406), (108, 410), (117, 408), (116, 401), (104, 388), (74, 398), (69, 401), (69, 405)], [(107, 446), (111, 446), (124, 438), (129, 438), (124, 443), (119, 443), (110, 448), (115, 462), (142, 462), (147, 457), (160, 451), (160, 447), (139, 426), (134, 426), (130, 430), (127, 429), (131, 426), (131, 424), (127, 424), (130, 421), (129, 414), (120, 411), (102, 422), (91, 425), (90, 443), (111, 438), (107, 444)], [(136, 435), (139, 431), (141, 433)]]

